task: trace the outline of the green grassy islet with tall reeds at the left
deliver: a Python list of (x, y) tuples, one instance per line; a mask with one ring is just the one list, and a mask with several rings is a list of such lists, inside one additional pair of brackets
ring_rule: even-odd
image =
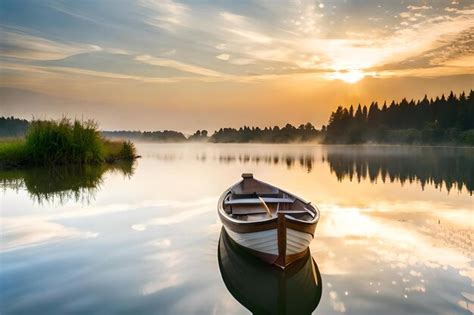
[(24, 138), (0, 140), (0, 168), (114, 163), (137, 157), (132, 142), (104, 139), (92, 120), (34, 120)]

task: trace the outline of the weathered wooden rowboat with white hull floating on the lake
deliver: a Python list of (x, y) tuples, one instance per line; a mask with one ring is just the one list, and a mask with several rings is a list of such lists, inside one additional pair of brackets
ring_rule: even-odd
[(229, 236), (270, 264), (285, 268), (303, 257), (319, 220), (319, 210), (280, 188), (242, 174), (218, 202)]

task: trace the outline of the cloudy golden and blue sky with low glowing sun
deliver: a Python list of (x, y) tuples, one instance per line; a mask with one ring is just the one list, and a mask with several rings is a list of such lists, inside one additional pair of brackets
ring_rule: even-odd
[(0, 115), (320, 127), (338, 105), (471, 88), (472, 1), (0, 0)]

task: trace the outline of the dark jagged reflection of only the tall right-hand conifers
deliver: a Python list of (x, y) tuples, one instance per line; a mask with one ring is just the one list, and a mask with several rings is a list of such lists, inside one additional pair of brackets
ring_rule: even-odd
[(330, 148), (327, 162), (338, 180), (369, 179), (375, 182), (418, 182), (449, 192), (465, 187), (470, 194), (474, 190), (474, 151), (459, 148), (358, 148), (344, 151)]

